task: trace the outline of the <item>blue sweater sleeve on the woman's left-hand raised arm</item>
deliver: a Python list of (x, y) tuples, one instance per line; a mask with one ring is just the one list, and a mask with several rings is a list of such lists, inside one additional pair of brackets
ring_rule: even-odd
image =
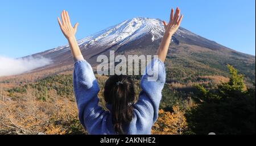
[(92, 67), (85, 60), (75, 62), (73, 89), (82, 126), (86, 128), (89, 134), (92, 134), (93, 130), (100, 130), (105, 110), (98, 106), (97, 94), (100, 88)]

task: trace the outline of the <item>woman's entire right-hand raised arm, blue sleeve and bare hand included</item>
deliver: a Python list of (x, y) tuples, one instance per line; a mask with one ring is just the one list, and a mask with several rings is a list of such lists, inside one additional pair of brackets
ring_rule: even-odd
[[(162, 90), (166, 82), (166, 68), (164, 66), (164, 60), (166, 60), (166, 55), (170, 45), (172, 35), (177, 31), (180, 26), (180, 22), (183, 16), (180, 15), (180, 10), (177, 8), (174, 15), (174, 10), (171, 11), (170, 22), (164, 23), (164, 28), (166, 32), (164, 33), (162, 43), (158, 49), (157, 55), (158, 59), (154, 59), (147, 65), (144, 75), (141, 80), (142, 91), (139, 94), (138, 102), (135, 104), (135, 115), (137, 118), (146, 118), (147, 120), (142, 127), (146, 127), (144, 124), (148, 123), (147, 126), (152, 126), (156, 119), (158, 118), (158, 109), (160, 101), (162, 99)], [(150, 77), (147, 70), (151, 70), (153, 74), (157, 74), (156, 81), (150, 81)]]

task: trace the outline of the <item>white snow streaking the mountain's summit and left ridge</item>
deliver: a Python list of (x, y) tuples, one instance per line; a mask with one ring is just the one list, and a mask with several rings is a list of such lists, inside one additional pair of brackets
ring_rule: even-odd
[[(114, 44), (123, 45), (140, 37), (152, 34), (152, 41), (163, 36), (164, 27), (159, 19), (150, 18), (133, 18), (125, 20), (115, 26), (106, 28), (97, 34), (85, 37), (78, 40), (78, 44), (83, 47), (111, 47)], [(56, 51), (68, 51), (68, 45), (51, 49), (44, 54), (53, 53)]]

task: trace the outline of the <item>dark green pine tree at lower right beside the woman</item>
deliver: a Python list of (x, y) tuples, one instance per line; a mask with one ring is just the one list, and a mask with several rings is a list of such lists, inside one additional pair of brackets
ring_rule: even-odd
[(255, 87), (246, 89), (243, 76), (227, 65), (229, 82), (207, 90), (197, 85), (197, 106), (188, 112), (189, 128), (195, 134), (255, 134)]

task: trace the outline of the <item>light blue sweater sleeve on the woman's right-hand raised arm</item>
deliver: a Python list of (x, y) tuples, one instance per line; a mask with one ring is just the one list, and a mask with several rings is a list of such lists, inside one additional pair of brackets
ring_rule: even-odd
[(141, 121), (152, 126), (158, 118), (158, 110), (162, 99), (162, 90), (166, 82), (166, 70), (164, 63), (154, 59), (147, 65), (141, 80), (142, 91), (138, 102), (135, 104), (137, 115)]

